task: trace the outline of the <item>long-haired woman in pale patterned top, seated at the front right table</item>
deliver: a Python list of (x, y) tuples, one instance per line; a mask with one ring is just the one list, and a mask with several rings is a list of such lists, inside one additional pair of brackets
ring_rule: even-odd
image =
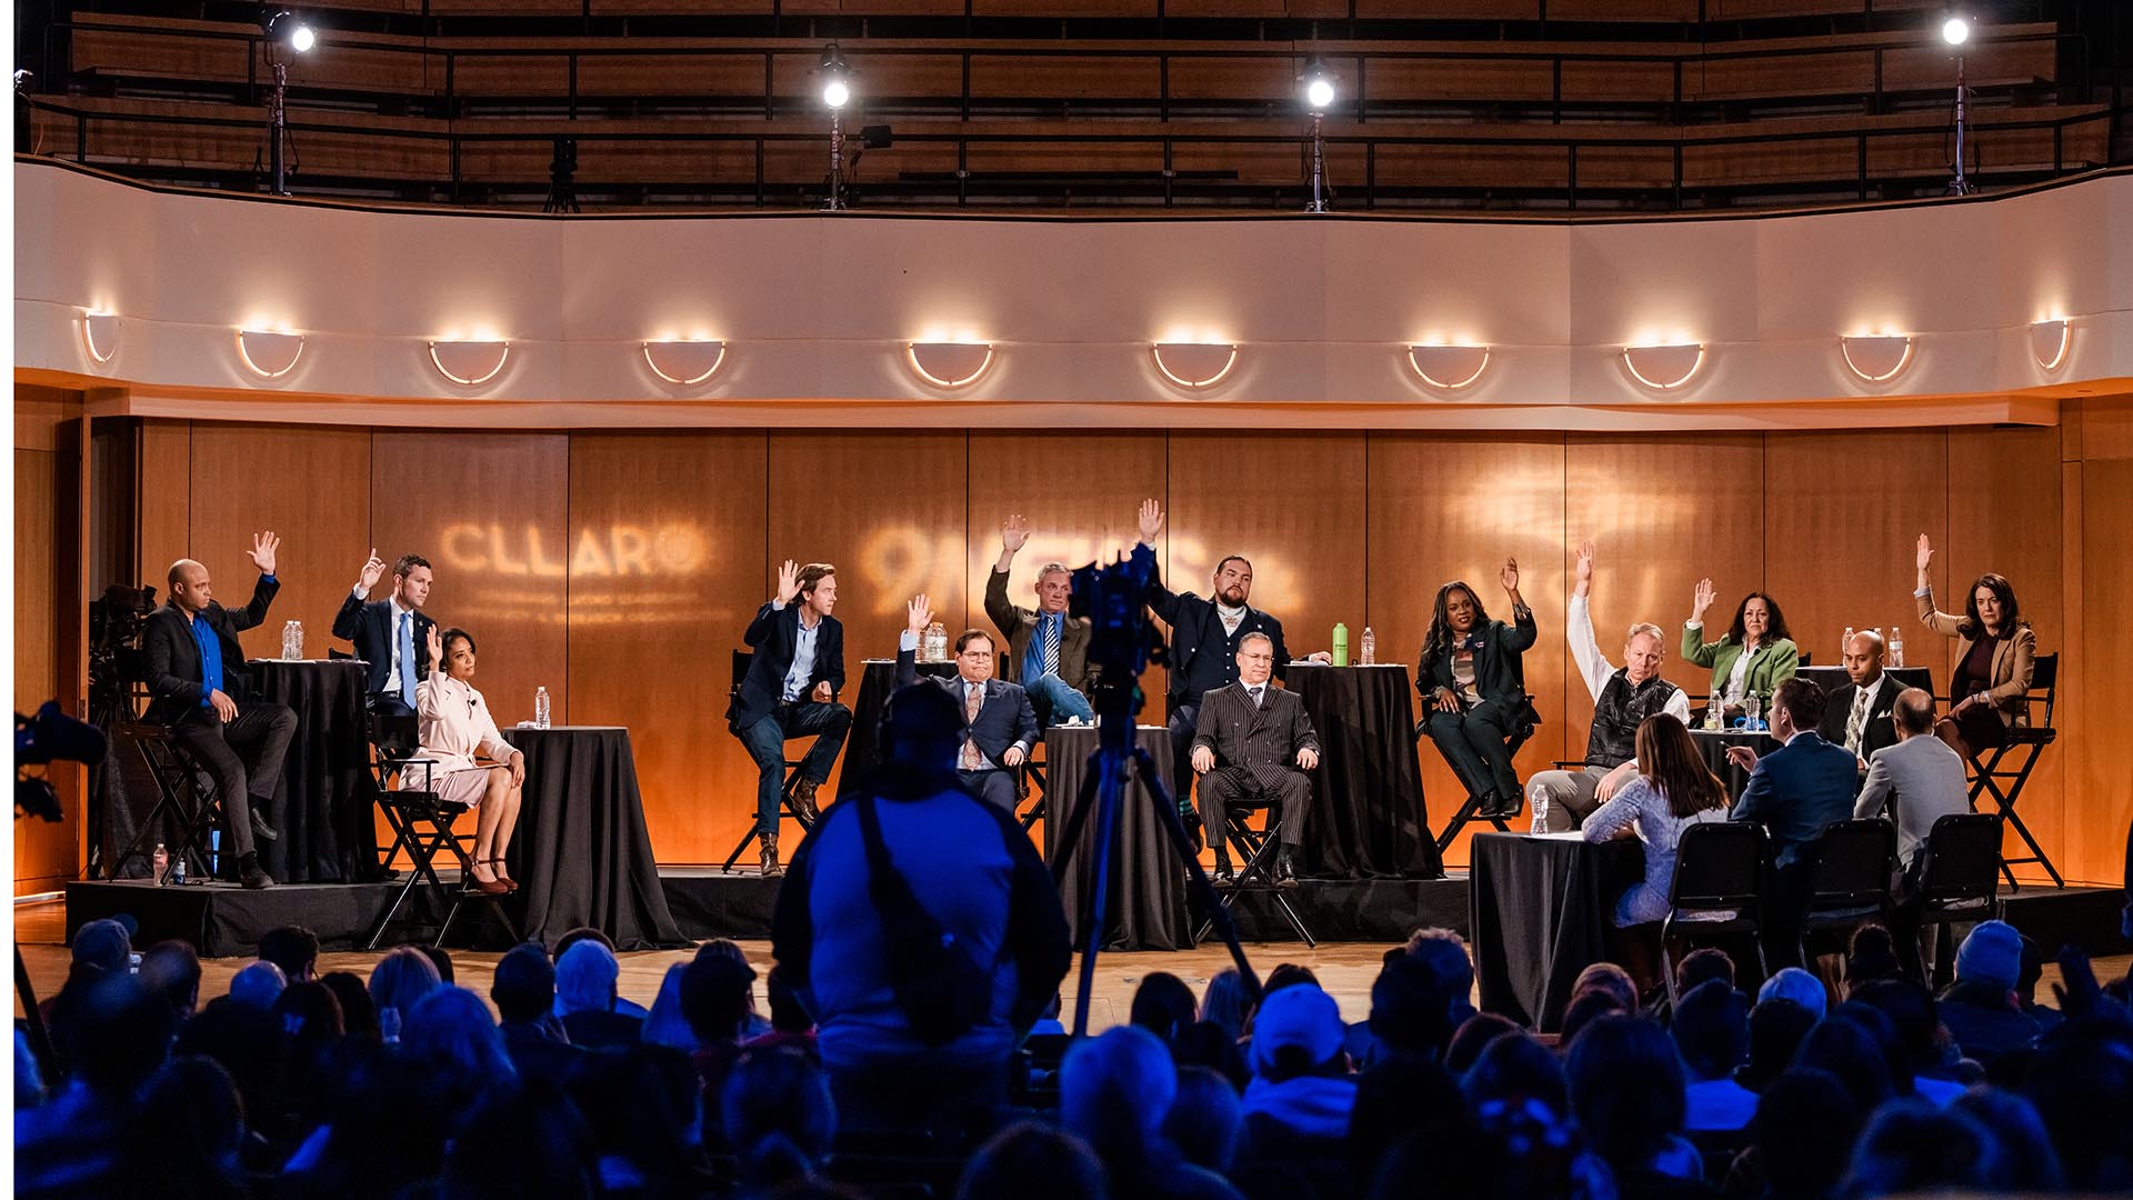
[(1704, 820), (1726, 820), (1732, 803), (1726, 784), (1704, 764), (1689, 728), (1670, 713), (1645, 717), (1636, 726), (1636, 771), (1613, 801), (1585, 818), (1585, 841), (1634, 833), (1645, 843), (1645, 882), (1615, 903), (1617, 929), (1666, 918), (1681, 831)]

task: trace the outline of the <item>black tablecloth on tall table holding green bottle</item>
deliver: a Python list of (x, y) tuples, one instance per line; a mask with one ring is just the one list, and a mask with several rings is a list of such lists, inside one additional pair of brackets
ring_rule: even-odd
[(1442, 875), (1414, 756), (1408, 668), (1290, 664), (1286, 685), (1325, 747), (1312, 771), (1303, 871), (1340, 880)]

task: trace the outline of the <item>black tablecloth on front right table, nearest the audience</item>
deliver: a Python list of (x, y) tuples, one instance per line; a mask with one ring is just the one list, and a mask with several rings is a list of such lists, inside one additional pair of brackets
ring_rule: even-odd
[(1608, 957), (1623, 888), (1645, 878), (1645, 843), (1625, 837), (1476, 833), (1468, 884), (1480, 1006), (1542, 1033), (1563, 1027), (1578, 972)]

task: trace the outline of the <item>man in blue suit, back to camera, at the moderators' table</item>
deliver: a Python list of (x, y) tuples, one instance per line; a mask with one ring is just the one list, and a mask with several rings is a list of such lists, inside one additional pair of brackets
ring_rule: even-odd
[(1764, 895), (1764, 940), (1773, 969), (1798, 957), (1798, 922), (1807, 910), (1807, 843), (1824, 828), (1851, 820), (1858, 758), (1815, 732), (1824, 707), (1819, 685), (1785, 679), (1770, 696), (1770, 737), (1783, 745), (1762, 758), (1745, 745), (1726, 749), (1726, 758), (1749, 773), (1732, 820), (1751, 820), (1770, 835), (1777, 873)]

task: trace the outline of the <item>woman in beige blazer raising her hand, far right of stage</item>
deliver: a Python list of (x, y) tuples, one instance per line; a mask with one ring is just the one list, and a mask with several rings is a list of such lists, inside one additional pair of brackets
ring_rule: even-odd
[(2028, 724), (2028, 683), (2037, 673), (2037, 630), (2022, 619), (2014, 585), (2001, 574), (1971, 583), (1960, 617), (1932, 606), (1932, 542), (1918, 536), (1918, 619), (1956, 638), (1956, 673), (1947, 681), (1947, 715), (1932, 730), (1964, 758), (2007, 743), (2007, 730)]

